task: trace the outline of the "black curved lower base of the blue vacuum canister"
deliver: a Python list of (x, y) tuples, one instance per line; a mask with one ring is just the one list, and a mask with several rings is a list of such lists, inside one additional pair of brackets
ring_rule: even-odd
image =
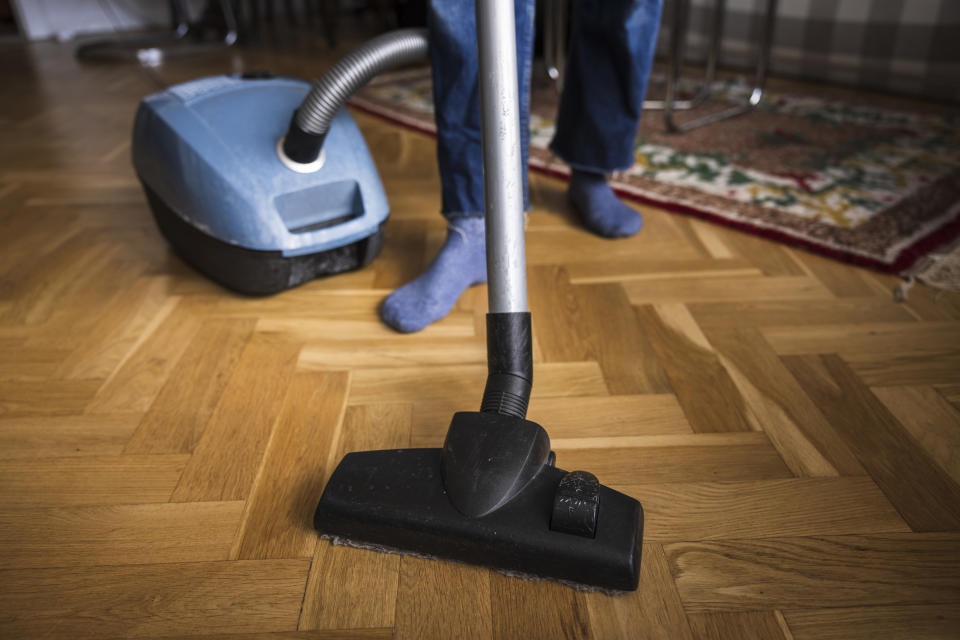
[(383, 245), (385, 223), (366, 238), (319, 253), (288, 257), (280, 251), (245, 249), (196, 229), (146, 184), (143, 188), (157, 226), (174, 250), (197, 271), (246, 295), (269, 295), (321, 276), (359, 269), (376, 258)]

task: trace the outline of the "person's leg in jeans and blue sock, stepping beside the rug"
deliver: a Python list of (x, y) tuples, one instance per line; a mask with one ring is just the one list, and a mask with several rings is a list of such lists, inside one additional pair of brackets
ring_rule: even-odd
[(551, 150), (571, 168), (570, 202), (594, 233), (624, 237), (643, 225), (606, 174), (633, 165), (662, 0), (580, 0)]

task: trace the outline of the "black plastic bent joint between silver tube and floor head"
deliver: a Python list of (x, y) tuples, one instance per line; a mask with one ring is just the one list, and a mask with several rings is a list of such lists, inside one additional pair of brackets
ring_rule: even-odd
[(488, 313), (487, 386), (480, 411), (525, 418), (532, 386), (530, 313)]

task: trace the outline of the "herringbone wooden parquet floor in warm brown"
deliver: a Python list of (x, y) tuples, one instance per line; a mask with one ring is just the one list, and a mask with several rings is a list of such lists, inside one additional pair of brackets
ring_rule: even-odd
[(381, 257), (243, 298), (155, 229), (129, 164), (149, 77), (55, 44), (0, 62), (0, 637), (960, 637), (960, 296), (897, 304), (890, 277), (650, 208), (601, 240), (534, 177), (530, 417), (644, 504), (640, 589), (331, 547), (310, 516), (341, 454), (439, 446), (479, 403), (484, 288), (419, 334), (377, 316), (443, 240), (433, 140), (358, 114)]

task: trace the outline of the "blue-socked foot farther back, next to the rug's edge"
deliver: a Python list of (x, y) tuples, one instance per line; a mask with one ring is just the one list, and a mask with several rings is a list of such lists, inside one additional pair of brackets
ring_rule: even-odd
[(567, 190), (583, 224), (605, 238), (625, 238), (640, 231), (643, 218), (620, 202), (602, 173), (573, 169)]

